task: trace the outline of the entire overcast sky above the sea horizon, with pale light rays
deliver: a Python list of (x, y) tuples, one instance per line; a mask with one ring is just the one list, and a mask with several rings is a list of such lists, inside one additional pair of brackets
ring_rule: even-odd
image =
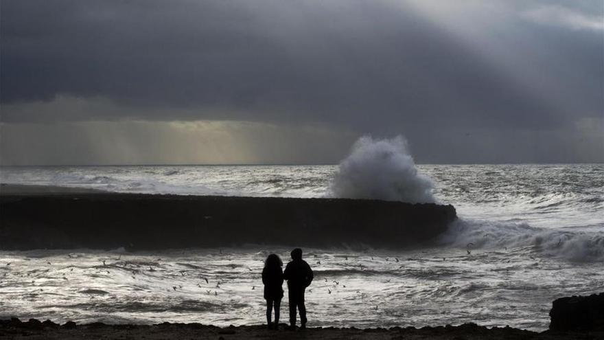
[(604, 2), (0, 0), (0, 163), (604, 161)]

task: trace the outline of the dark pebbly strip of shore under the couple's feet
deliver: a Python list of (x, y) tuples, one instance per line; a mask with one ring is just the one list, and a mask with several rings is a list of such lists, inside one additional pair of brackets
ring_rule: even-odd
[(170, 324), (164, 322), (154, 325), (137, 324), (82, 324), (68, 321), (63, 325), (52, 321), (30, 319), (0, 320), (0, 338), (5, 339), (604, 339), (604, 332), (564, 332), (545, 330), (533, 332), (511, 327), (478, 326), (463, 324), (460, 326), (435, 327), (393, 327), (393, 328), (335, 328), (318, 327), (305, 330), (286, 330), (285, 324), (279, 330), (268, 330), (264, 325), (229, 326), (220, 328), (202, 324)]

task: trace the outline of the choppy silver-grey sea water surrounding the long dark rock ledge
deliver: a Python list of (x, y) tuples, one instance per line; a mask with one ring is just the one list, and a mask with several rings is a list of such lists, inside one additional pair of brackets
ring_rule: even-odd
[[(421, 165), (460, 220), (418, 249), (305, 249), (309, 326), (474, 321), (544, 330), (553, 299), (604, 291), (604, 165)], [(0, 168), (1, 183), (115, 192), (329, 196), (336, 166)], [(471, 243), (471, 245), (470, 245)], [(248, 245), (127, 253), (0, 251), (0, 317), (54, 321), (264, 322)], [(207, 282), (206, 282), (207, 279)], [(285, 288), (285, 285), (284, 285)], [(281, 306), (287, 321), (287, 299)]]

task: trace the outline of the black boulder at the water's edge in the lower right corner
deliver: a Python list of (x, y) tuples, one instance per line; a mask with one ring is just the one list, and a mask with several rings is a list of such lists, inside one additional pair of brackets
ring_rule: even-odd
[(604, 293), (556, 299), (550, 330), (604, 331)]

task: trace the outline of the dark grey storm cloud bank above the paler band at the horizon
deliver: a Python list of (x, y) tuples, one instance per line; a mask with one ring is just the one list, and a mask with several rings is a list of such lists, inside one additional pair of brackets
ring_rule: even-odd
[(321, 122), (387, 133), (601, 116), (603, 31), (589, 25), (599, 1), (486, 1), (508, 11), (474, 26), (492, 46), (413, 2), (3, 0), (3, 106), (63, 95), (123, 109), (8, 109), (1, 120)]

